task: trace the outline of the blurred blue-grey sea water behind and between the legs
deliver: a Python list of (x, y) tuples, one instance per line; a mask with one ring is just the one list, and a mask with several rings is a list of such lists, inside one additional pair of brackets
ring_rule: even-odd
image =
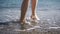
[[(22, 1), (0, 0), (0, 23), (19, 19)], [(31, 6), (27, 11), (28, 17), (31, 12)], [(36, 12), (41, 19), (41, 24), (49, 23), (50, 26), (60, 26), (60, 0), (39, 0)]]

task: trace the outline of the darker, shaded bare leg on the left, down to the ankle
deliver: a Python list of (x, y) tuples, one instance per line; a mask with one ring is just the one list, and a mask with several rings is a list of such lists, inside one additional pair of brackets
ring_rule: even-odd
[(21, 24), (25, 23), (25, 15), (26, 15), (27, 8), (28, 8), (28, 2), (29, 0), (23, 0), (22, 6), (21, 6), (21, 17), (20, 17)]

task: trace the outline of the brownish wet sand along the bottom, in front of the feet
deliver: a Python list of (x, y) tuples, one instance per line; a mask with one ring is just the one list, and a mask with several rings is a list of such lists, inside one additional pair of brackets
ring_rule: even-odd
[[(41, 27), (27, 31), (19, 31), (19, 28), (19, 23), (0, 25), (0, 34), (60, 34), (60, 28), (44, 29), (43, 27)], [(17, 29), (17, 31), (15, 29)]]

